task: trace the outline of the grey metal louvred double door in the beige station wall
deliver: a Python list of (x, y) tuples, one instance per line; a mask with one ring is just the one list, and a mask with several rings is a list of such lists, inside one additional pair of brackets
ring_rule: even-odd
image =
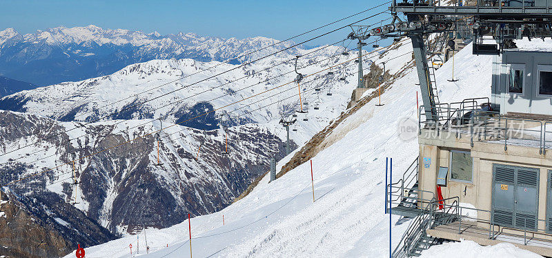
[(537, 227), (538, 168), (493, 164), (493, 223)]

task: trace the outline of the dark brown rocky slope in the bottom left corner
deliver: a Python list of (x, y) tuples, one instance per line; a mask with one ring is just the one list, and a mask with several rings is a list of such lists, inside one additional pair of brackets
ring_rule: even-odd
[(115, 239), (108, 230), (52, 192), (36, 198), (0, 192), (0, 254), (61, 257)]

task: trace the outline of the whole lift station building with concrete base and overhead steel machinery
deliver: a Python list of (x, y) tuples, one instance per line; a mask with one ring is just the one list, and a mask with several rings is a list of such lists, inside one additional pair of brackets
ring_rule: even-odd
[[(412, 218), (393, 257), (460, 239), (552, 257), (552, 51), (515, 46), (552, 37), (552, 1), (460, 3), (393, 1), (371, 32), (411, 38), (424, 102), (420, 156), (386, 188), (386, 212)], [(440, 103), (428, 59), (460, 37), (494, 55), (491, 97)]]

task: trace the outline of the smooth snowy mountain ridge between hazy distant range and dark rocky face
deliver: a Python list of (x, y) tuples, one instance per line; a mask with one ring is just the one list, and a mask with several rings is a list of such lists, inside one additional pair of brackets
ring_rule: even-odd
[[(299, 51), (299, 72), (308, 75), (301, 83), (302, 102), (311, 120), (299, 117), (299, 134), (293, 135), (297, 142), (310, 139), (345, 110), (356, 86), (355, 63), (348, 56), (333, 57), (338, 51), (333, 46)], [(218, 123), (263, 123), (277, 132), (282, 131), (280, 114), (301, 106), (293, 58), (269, 57), (243, 67), (193, 59), (152, 60), (104, 77), (18, 92), (1, 98), (0, 109), (59, 121), (162, 117), (201, 130), (213, 130)], [(211, 110), (215, 112), (195, 118)]]

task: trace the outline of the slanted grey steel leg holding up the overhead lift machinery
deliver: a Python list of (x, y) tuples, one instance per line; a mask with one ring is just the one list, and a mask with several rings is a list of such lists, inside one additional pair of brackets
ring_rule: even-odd
[(422, 34), (409, 34), (412, 40), (414, 60), (416, 61), (416, 70), (420, 80), (420, 92), (422, 101), (424, 101), (424, 110), (426, 112), (426, 121), (428, 124), (437, 123), (437, 114), (435, 112), (435, 99), (433, 90), (431, 90), (431, 81), (428, 77), (428, 64), (426, 59), (426, 50), (424, 49), (424, 38)]

